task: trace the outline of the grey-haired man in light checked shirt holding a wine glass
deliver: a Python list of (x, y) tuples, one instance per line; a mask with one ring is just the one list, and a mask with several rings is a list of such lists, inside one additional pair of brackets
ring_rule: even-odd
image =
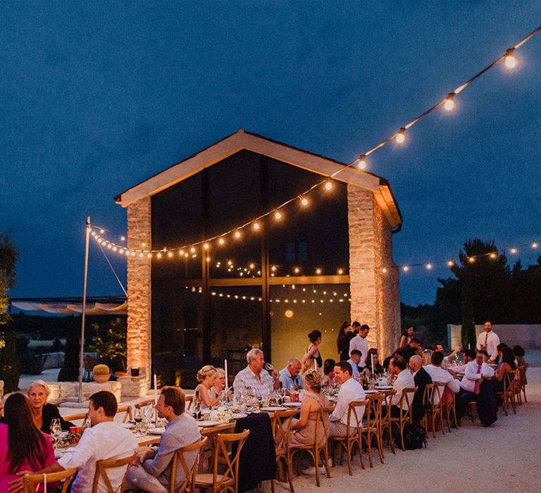
[(273, 370), (271, 377), (266, 370), (263, 370), (265, 358), (261, 349), (250, 349), (246, 359), (248, 366), (244, 370), (240, 370), (233, 380), (235, 396), (246, 394), (247, 387), (251, 387), (257, 397), (266, 397), (268, 394), (272, 394), (274, 389), (280, 388), (278, 372)]

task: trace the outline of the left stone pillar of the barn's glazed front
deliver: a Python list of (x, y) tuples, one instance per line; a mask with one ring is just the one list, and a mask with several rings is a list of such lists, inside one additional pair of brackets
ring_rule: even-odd
[[(128, 248), (151, 248), (151, 201), (128, 206)], [(128, 257), (128, 368), (139, 368), (147, 388), (151, 368), (151, 259)]]

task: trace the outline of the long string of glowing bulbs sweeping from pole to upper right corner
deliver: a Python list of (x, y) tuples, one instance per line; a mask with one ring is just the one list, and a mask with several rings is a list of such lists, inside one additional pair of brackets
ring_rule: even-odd
[[(331, 180), (333, 178), (335, 178), (337, 175), (339, 175), (340, 173), (342, 173), (344, 170), (347, 170), (347, 169), (352, 168), (352, 167), (356, 167), (356, 168), (359, 168), (361, 170), (366, 169), (366, 158), (368, 156), (370, 156), (371, 154), (373, 154), (378, 149), (381, 149), (383, 146), (385, 146), (385, 144), (387, 144), (391, 140), (394, 139), (397, 142), (397, 144), (404, 144), (404, 142), (406, 141), (406, 131), (408, 131), (413, 125), (415, 125), (420, 120), (422, 120), (423, 118), (428, 116), (430, 113), (435, 111), (440, 106), (444, 106), (444, 108), (447, 111), (451, 111), (454, 108), (454, 105), (455, 105), (455, 101), (454, 101), (455, 97), (458, 94), (460, 94), (462, 91), (464, 91), (464, 89), (466, 89), (466, 87), (471, 85), (471, 83), (473, 81), (477, 80), (479, 77), (481, 77), (482, 75), (487, 73), (487, 71), (490, 70), (491, 68), (494, 68), (495, 65), (497, 65), (498, 63), (504, 61), (504, 65), (506, 66), (506, 68), (509, 68), (509, 69), (515, 68), (516, 65), (517, 65), (516, 54), (515, 54), (516, 50), (519, 49), (521, 46), (523, 46), (523, 44), (528, 42), (530, 39), (532, 39), (535, 35), (537, 35), (537, 33), (540, 32), (540, 30), (541, 30), (541, 26), (537, 27), (535, 30), (530, 32), (530, 34), (528, 36), (521, 39), (520, 42), (518, 42), (514, 46), (511, 46), (511, 48), (506, 49), (504, 54), (502, 54), (501, 56), (496, 58), (495, 61), (490, 63), (490, 65), (487, 65), (487, 67), (483, 68), (483, 70), (481, 70), (479, 73), (475, 74), (473, 77), (471, 77), (471, 79), (467, 80), (466, 82), (464, 82), (464, 84), (460, 85), (459, 87), (456, 87), (456, 89), (454, 89), (454, 91), (448, 92), (447, 96), (444, 96), (444, 98), (442, 98), (440, 101), (437, 101), (437, 103), (434, 106), (432, 106), (431, 108), (428, 108), (428, 110), (424, 111), (423, 113), (421, 113), (421, 115), (417, 116), (416, 118), (413, 118), (413, 120), (411, 120), (409, 123), (406, 123), (406, 125), (402, 125), (402, 127), (400, 127), (398, 132), (395, 132), (393, 135), (390, 135), (390, 137), (387, 137), (387, 139), (384, 139), (379, 144), (376, 144), (371, 149), (368, 149), (368, 151), (361, 154), (361, 156), (359, 156), (359, 158), (356, 158), (351, 163), (349, 163), (347, 165), (344, 165), (342, 168), (336, 170), (334, 173), (332, 173), (332, 175), (330, 175), (328, 177), (325, 177), (325, 179), (323, 179), (320, 182), (317, 182), (316, 184), (312, 185), (305, 192), (303, 192), (303, 193), (301, 193), (301, 194), (299, 194), (297, 196), (292, 197), (291, 199), (283, 202), (280, 206), (274, 207), (270, 211), (267, 211), (266, 213), (261, 214), (261, 216), (259, 216), (257, 218), (254, 218), (254, 219), (248, 221), (247, 223), (244, 223), (244, 224), (242, 224), (240, 226), (237, 226), (237, 227), (233, 227), (232, 229), (230, 229), (230, 230), (228, 230), (226, 232), (222, 232), (222, 233), (220, 233), (218, 235), (215, 235), (213, 237), (202, 239), (199, 242), (194, 242), (192, 244), (187, 244), (187, 245), (182, 245), (182, 246), (176, 246), (175, 248), (170, 248), (170, 249), (154, 250), (154, 249), (151, 249), (150, 247), (147, 247), (147, 246), (141, 246), (140, 249), (128, 249), (128, 247), (126, 247), (126, 246), (124, 246), (122, 244), (117, 244), (115, 242), (111, 242), (110, 240), (105, 239), (104, 237), (102, 237), (102, 235), (104, 235), (104, 233), (105, 233), (104, 228), (100, 228), (98, 233), (96, 231), (93, 231), (92, 232), (93, 237), (95, 239), (97, 239), (97, 241), (99, 243), (101, 243), (101, 244), (104, 244), (104, 243), (106, 245), (111, 244), (111, 250), (112, 251), (118, 251), (118, 253), (123, 254), (125, 256), (136, 256), (137, 254), (142, 253), (142, 254), (147, 254), (147, 256), (149, 256), (149, 258), (152, 258), (153, 254), (161, 253), (163, 255), (163, 254), (167, 254), (168, 251), (183, 251), (183, 250), (190, 249), (190, 248), (196, 247), (196, 246), (200, 247), (203, 244), (211, 243), (211, 242), (214, 242), (214, 241), (218, 241), (218, 244), (224, 244), (225, 243), (224, 238), (227, 237), (228, 235), (233, 235), (235, 238), (240, 239), (240, 237), (241, 237), (240, 232), (241, 232), (241, 230), (244, 230), (245, 227), (248, 227), (249, 225), (251, 225), (254, 230), (259, 230), (259, 222), (261, 220), (263, 220), (263, 218), (266, 218), (267, 216), (270, 216), (270, 214), (274, 214), (275, 219), (279, 220), (282, 217), (282, 215), (280, 213), (280, 209), (284, 208), (285, 206), (288, 206), (288, 205), (292, 204), (292, 202), (296, 201), (297, 199), (300, 199), (300, 202), (301, 202), (302, 206), (304, 206), (304, 207), (308, 206), (309, 200), (307, 198), (307, 195), (309, 195), (313, 191), (313, 189), (321, 187), (322, 185), (324, 185), (325, 189), (327, 189), (328, 191), (330, 189), (332, 189)], [(123, 237), (122, 241), (125, 241), (125, 237)], [(107, 248), (108, 248), (108, 246), (107, 246)], [(194, 254), (194, 253), (192, 254), (192, 256), (195, 256), (195, 255), (196, 254)]]

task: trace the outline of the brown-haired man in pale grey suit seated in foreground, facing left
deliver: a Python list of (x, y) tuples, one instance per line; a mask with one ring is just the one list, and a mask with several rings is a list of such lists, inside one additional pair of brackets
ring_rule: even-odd
[[(201, 433), (192, 416), (185, 413), (185, 394), (180, 387), (161, 389), (156, 411), (159, 418), (168, 420), (166, 431), (161, 435), (157, 447), (142, 447), (139, 460), (128, 471), (125, 489), (139, 489), (145, 492), (168, 492), (171, 482), (172, 460), (175, 450), (199, 442)], [(188, 468), (192, 468), (198, 451), (185, 454)], [(184, 469), (175, 471), (175, 490), (186, 479)]]

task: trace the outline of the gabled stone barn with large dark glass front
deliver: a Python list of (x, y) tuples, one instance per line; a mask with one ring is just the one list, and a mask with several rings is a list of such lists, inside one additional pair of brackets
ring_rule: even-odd
[(282, 368), (316, 328), (323, 358), (336, 359), (344, 320), (370, 325), (384, 355), (395, 349), (402, 217), (372, 173), (347, 168), (317, 185), (344, 166), (239, 130), (118, 195), (135, 252), (128, 366), (190, 387), (227, 358), (232, 382), (249, 347)]

